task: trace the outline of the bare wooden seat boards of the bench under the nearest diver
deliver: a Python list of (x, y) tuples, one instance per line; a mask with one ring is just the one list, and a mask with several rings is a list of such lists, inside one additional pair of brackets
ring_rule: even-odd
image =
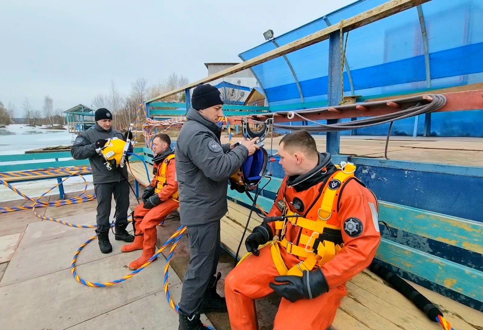
[[(249, 212), (246, 207), (228, 201), (228, 212), (221, 222), (221, 240), (223, 247), (232, 254), (236, 253)], [(253, 213), (245, 238), (260, 222), (260, 217)], [(246, 248), (242, 244), (239, 257), (245, 254)], [(408, 283), (437, 305), (454, 329), (483, 329), (483, 313)], [(438, 323), (431, 322), (412, 302), (369, 270), (356, 275), (346, 288), (347, 296), (342, 299), (332, 330), (441, 329)]]

